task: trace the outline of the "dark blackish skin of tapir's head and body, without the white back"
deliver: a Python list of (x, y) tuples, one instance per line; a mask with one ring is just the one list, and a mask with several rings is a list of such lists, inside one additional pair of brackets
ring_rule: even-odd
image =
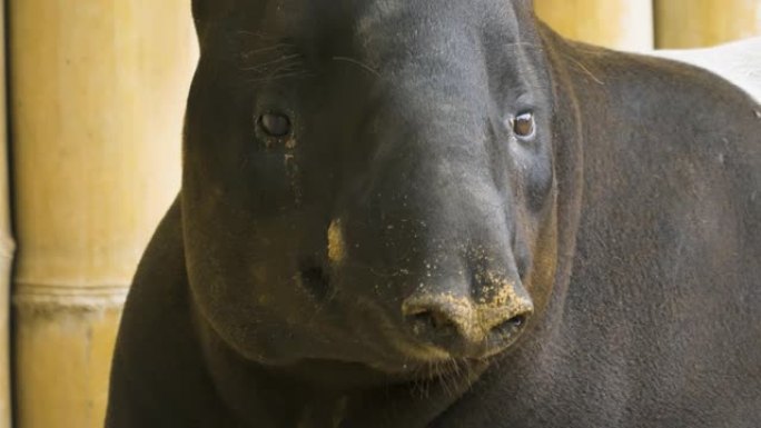
[(196, 0), (107, 427), (755, 426), (761, 107), (532, 9)]

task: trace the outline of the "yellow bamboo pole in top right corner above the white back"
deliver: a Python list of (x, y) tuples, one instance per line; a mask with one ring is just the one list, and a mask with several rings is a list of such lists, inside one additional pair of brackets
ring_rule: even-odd
[(761, 0), (655, 0), (655, 44), (708, 47), (761, 36)]

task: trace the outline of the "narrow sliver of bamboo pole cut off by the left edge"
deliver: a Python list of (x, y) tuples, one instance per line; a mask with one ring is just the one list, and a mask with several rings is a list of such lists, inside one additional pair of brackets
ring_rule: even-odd
[[(0, 47), (6, 46), (6, 11), (0, 8)], [(9, 309), (13, 239), (8, 198), (6, 52), (0, 50), (0, 427), (11, 427)]]

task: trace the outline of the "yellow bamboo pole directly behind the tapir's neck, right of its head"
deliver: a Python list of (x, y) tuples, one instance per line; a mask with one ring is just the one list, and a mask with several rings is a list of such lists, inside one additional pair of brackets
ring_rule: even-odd
[(622, 50), (653, 48), (652, 0), (534, 0), (534, 9), (574, 40)]

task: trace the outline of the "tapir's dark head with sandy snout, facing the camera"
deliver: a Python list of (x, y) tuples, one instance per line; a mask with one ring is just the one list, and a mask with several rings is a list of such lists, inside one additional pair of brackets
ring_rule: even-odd
[(194, 299), (268, 365), (483, 360), (535, 322), (556, 221), (530, 1), (195, 0)]

